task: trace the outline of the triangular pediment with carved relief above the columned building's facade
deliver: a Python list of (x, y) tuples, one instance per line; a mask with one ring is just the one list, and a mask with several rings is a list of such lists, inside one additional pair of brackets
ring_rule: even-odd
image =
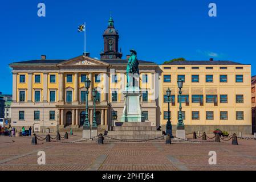
[(58, 65), (108, 65), (107, 63), (104, 63), (103, 61), (93, 59), (91, 57), (82, 55), (78, 56), (66, 61), (63, 61), (62, 63), (59, 63)]

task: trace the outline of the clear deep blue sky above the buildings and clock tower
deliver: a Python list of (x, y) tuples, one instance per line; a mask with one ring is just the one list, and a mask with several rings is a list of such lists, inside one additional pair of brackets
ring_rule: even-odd
[[(46, 17), (38, 17), (38, 3)], [(209, 17), (209, 3), (217, 17)], [(23, 0), (0, 2), (0, 92), (12, 92), (10, 63), (23, 60), (70, 59), (82, 55), (87, 23), (87, 51), (99, 57), (103, 31), (112, 11), (124, 57), (136, 49), (141, 60), (163, 63), (186, 60), (233, 60), (252, 65), (256, 75), (256, 2), (213, 0), (87, 1)]]

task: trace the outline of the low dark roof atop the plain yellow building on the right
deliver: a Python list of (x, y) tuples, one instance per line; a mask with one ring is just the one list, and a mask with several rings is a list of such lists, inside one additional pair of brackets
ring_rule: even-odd
[(233, 61), (173, 61), (164, 65), (244, 65)]

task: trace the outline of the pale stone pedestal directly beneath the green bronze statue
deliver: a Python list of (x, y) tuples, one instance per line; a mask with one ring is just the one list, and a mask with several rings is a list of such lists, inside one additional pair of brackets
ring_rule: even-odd
[(142, 122), (141, 90), (139, 87), (128, 87), (124, 94), (124, 110), (121, 122)]

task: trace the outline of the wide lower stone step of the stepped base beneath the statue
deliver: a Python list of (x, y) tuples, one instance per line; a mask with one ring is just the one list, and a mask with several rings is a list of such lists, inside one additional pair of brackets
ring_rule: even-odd
[(108, 131), (108, 135), (162, 135), (162, 131)]

